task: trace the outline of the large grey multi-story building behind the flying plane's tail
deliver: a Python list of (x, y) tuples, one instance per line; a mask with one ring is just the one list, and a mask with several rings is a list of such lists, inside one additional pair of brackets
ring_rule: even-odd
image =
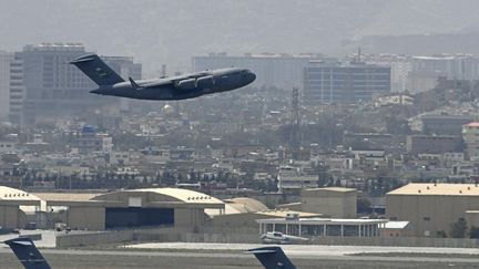
[[(23, 108), (26, 124), (74, 115), (102, 107), (120, 108), (120, 99), (98, 97), (89, 93), (96, 85), (75, 66), (68, 64), (85, 54), (78, 43), (44, 43), (23, 48)], [(141, 65), (130, 58), (105, 58), (122, 75), (140, 79)]]

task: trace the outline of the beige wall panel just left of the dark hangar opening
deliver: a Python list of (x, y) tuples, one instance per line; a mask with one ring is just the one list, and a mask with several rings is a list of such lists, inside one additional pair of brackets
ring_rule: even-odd
[(70, 207), (67, 214), (67, 225), (71, 228), (104, 230), (104, 207)]

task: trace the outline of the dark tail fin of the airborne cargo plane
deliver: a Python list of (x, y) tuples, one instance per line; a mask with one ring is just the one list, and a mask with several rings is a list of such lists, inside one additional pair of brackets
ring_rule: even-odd
[(79, 68), (99, 86), (124, 82), (124, 80), (106, 65), (106, 63), (104, 63), (96, 54), (83, 55), (74, 59), (70, 63)]

